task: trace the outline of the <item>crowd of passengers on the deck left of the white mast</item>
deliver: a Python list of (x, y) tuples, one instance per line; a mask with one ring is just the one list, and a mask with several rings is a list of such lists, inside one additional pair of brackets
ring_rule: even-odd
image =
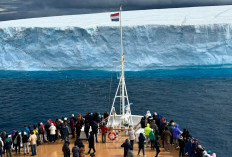
[[(21, 130), (13, 130), (11, 134), (7, 134), (5, 131), (1, 132), (0, 135), (0, 157), (3, 154), (6, 157), (12, 157), (12, 151), (16, 154), (21, 153), (21, 148), (23, 149), (23, 154), (29, 154), (31, 150), (31, 156), (36, 155), (37, 146), (43, 143), (56, 143), (58, 139), (64, 141), (62, 151), (64, 157), (70, 157), (71, 153), (73, 157), (83, 157), (85, 156), (85, 147), (80, 139), (81, 129), (84, 126), (84, 132), (86, 139), (89, 143), (89, 151), (93, 149), (91, 156), (94, 156), (95, 142), (98, 143), (98, 130), (102, 130), (102, 142), (106, 142), (106, 123), (101, 123), (103, 119), (107, 119), (109, 114), (104, 113), (100, 116), (98, 113), (86, 113), (84, 117), (79, 114), (77, 118), (72, 114), (71, 118), (63, 117), (61, 119), (56, 119), (52, 121), (48, 119), (44, 125), (42, 122), (34, 125), (33, 127), (27, 126), (26, 124)], [(91, 129), (90, 129), (91, 128)], [(91, 130), (91, 131), (90, 131)], [(70, 151), (70, 139), (69, 135), (75, 138), (74, 147)], [(31, 149), (29, 149), (31, 147)]]

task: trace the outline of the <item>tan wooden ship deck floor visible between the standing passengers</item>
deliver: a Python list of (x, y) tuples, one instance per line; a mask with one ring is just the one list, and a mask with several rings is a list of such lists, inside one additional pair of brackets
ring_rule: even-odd
[[(121, 132), (119, 134), (118, 140), (111, 142), (107, 141), (106, 143), (101, 143), (101, 134), (98, 135), (98, 139), (100, 143), (95, 144), (95, 149), (96, 149), (96, 157), (122, 157), (123, 156), (123, 148), (121, 148), (121, 144), (125, 141), (127, 136), (125, 133)], [(62, 146), (63, 146), (63, 141), (60, 139), (56, 141), (56, 143), (45, 143), (42, 145), (39, 145), (37, 147), (37, 157), (63, 157), (63, 152), (62, 152)], [(85, 154), (86, 156), (90, 156), (87, 154), (88, 152), (88, 142), (86, 140), (83, 140), (83, 143), (85, 145)], [(70, 140), (70, 151), (72, 151), (72, 147), (74, 145), (74, 139)], [(159, 154), (159, 157), (178, 157), (179, 156), (179, 151), (174, 149), (171, 146), (170, 152), (164, 151), (164, 148), (160, 148), (161, 152)], [(22, 154), (23, 149), (21, 149), (21, 155), (15, 155), (15, 152), (13, 153), (13, 156), (24, 156)], [(134, 155), (137, 156), (138, 154), (138, 144), (134, 144)], [(151, 150), (151, 148), (145, 148), (145, 154), (146, 157), (155, 157), (156, 151)], [(31, 155), (31, 153), (30, 153)], [(25, 155), (25, 156), (30, 156), (30, 155)], [(140, 152), (140, 155), (142, 156), (142, 151)], [(72, 156), (72, 155), (71, 155)]]

